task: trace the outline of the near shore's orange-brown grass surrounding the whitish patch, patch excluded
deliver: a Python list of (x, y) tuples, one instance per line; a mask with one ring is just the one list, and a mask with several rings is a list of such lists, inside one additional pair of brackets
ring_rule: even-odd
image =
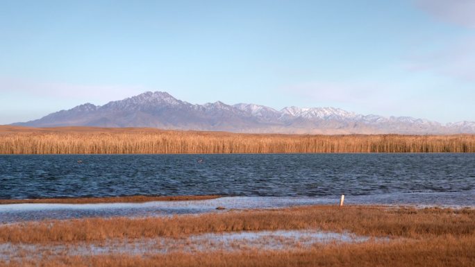
[[(168, 254), (55, 255), (45, 246), (192, 234), (322, 230), (385, 238), (288, 250), (213, 250)], [(42, 246), (1, 266), (473, 266), (475, 210), (308, 206), (147, 218), (84, 218), (0, 225), (0, 244)], [(99, 246), (98, 245), (98, 246)]]

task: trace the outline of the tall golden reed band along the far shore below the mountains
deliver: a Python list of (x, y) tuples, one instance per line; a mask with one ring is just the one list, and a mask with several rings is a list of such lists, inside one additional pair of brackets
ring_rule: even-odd
[(0, 126), (0, 154), (475, 153), (475, 135), (274, 135)]

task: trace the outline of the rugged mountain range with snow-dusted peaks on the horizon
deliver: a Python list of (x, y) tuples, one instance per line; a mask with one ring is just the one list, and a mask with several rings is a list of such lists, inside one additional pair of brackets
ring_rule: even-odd
[(475, 133), (475, 122), (438, 123), (412, 117), (381, 117), (335, 107), (272, 107), (256, 104), (203, 105), (167, 92), (145, 92), (106, 105), (85, 103), (17, 126), (149, 127), (292, 134), (456, 134)]

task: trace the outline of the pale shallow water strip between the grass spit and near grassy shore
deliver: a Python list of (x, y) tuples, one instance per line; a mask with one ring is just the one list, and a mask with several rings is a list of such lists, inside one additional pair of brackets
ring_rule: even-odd
[[(349, 196), (351, 204), (397, 204), (400, 205), (449, 205), (453, 207), (474, 206), (475, 192), (467, 193), (410, 193), (376, 196)], [(450, 201), (448, 201), (450, 200)], [(224, 197), (209, 200), (154, 201), (149, 203), (107, 204), (10, 204), (0, 205), (0, 223), (112, 216), (167, 216), (172, 214), (201, 214), (226, 212), (229, 209), (269, 209), (299, 205), (337, 205), (339, 197)], [(464, 205), (460, 205), (464, 203)], [(225, 207), (220, 210), (217, 207)]]

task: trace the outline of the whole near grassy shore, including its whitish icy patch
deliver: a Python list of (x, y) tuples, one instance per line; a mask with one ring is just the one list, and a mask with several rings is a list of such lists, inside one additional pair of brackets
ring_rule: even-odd
[(473, 266), (474, 222), (472, 208), (328, 205), (14, 223), (0, 225), (0, 263)]

